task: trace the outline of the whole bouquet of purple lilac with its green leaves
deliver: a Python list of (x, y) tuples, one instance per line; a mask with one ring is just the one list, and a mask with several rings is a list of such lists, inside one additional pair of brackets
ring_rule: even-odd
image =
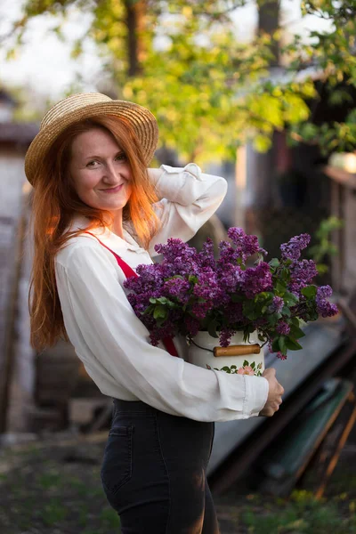
[[(200, 252), (181, 239), (156, 245), (162, 262), (139, 265), (140, 276), (125, 280), (133, 291), (128, 300), (153, 345), (177, 334), (191, 340), (205, 330), (226, 347), (236, 332), (242, 331), (246, 341), (256, 330), (259, 340), (284, 360), (287, 350), (302, 348), (298, 340), (307, 321), (337, 313), (328, 301), (331, 287), (312, 283), (318, 274), (315, 263), (300, 259), (311, 237), (290, 239), (280, 246), (280, 259), (269, 263), (256, 236), (232, 227), (228, 237), (231, 242), (220, 242), (216, 259), (211, 239)], [(252, 255), (257, 259), (247, 266)]]

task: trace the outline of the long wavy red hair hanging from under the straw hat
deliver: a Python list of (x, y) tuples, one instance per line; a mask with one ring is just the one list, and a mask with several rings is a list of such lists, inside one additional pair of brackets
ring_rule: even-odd
[[(123, 223), (131, 222), (134, 238), (144, 248), (149, 246), (150, 239), (160, 227), (159, 218), (152, 208), (158, 196), (150, 182), (141, 146), (131, 125), (113, 116), (90, 117), (70, 125), (39, 162), (32, 191), (29, 229), (33, 231), (34, 258), (28, 309), (30, 344), (37, 352), (53, 346), (60, 338), (69, 341), (56, 286), (55, 255), (69, 239), (85, 230), (113, 223), (114, 214), (87, 206), (78, 197), (69, 174), (74, 138), (98, 127), (112, 134), (131, 167), (132, 192), (123, 208)], [(85, 229), (69, 231), (69, 224), (77, 214), (84, 215), (90, 222)]]

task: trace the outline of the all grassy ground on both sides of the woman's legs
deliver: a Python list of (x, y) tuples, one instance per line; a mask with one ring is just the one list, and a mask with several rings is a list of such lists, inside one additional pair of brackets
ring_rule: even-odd
[[(120, 521), (101, 488), (102, 440), (49, 442), (0, 450), (2, 534), (119, 534)], [(352, 467), (355, 465), (354, 467)], [(214, 498), (222, 534), (353, 534), (356, 532), (356, 462), (339, 465), (326, 498), (295, 490), (290, 498), (238, 495), (231, 489)]]

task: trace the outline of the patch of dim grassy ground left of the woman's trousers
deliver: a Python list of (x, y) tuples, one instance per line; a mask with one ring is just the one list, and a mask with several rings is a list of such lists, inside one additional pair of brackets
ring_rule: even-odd
[(73, 445), (0, 450), (1, 533), (119, 534), (119, 518), (101, 488), (106, 437), (77, 444), (78, 457), (89, 454), (96, 465), (67, 462)]

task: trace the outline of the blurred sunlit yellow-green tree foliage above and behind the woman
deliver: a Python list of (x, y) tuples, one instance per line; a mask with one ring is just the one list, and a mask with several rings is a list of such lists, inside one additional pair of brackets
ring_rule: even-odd
[(344, 122), (315, 125), (309, 102), (319, 98), (315, 71), (327, 82), (330, 104), (352, 98), (356, 1), (303, 1), (303, 16), (328, 20), (329, 30), (286, 36), (279, 1), (254, 0), (259, 29), (244, 44), (231, 13), (252, 1), (26, 0), (8, 36), (8, 58), (26, 44), (31, 20), (54, 15), (52, 31), (65, 39), (63, 24), (79, 10), (90, 13), (91, 24), (72, 57), (80, 56), (85, 40), (95, 43), (106, 80), (98, 80), (98, 89), (151, 109), (161, 143), (184, 160), (234, 159), (247, 141), (263, 152), (276, 130), (287, 130), (291, 143), (318, 143), (324, 153), (353, 150), (355, 111)]

